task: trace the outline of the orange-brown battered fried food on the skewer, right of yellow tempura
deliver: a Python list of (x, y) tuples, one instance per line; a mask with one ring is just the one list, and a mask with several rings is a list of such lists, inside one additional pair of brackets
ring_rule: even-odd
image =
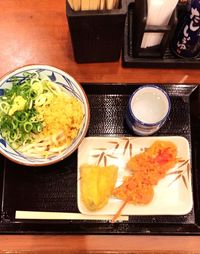
[(156, 141), (144, 152), (132, 157), (127, 168), (132, 175), (114, 189), (113, 195), (125, 203), (148, 204), (154, 196), (154, 186), (177, 163), (177, 147), (169, 141)]

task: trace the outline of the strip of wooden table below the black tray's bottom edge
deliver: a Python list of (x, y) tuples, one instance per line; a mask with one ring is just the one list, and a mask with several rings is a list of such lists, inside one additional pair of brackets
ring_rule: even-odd
[[(192, 236), (1, 236), (7, 253), (200, 253)], [(1, 253), (1, 252), (0, 252)]]

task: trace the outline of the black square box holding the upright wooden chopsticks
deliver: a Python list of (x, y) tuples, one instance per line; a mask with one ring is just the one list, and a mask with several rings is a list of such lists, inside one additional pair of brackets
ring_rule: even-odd
[(73, 11), (66, 1), (66, 13), (74, 58), (77, 63), (118, 61), (123, 46), (127, 1), (118, 9)]

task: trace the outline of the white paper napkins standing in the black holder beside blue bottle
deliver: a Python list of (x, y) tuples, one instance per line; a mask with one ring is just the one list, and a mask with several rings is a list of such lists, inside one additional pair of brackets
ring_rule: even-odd
[[(178, 0), (147, 0), (147, 25), (165, 26), (168, 25), (171, 15), (178, 3)], [(141, 48), (159, 45), (163, 33), (144, 33)]]

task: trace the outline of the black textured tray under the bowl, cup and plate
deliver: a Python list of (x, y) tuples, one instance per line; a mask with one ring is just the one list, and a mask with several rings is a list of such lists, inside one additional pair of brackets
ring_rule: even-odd
[[(83, 84), (91, 107), (87, 136), (132, 136), (124, 122), (134, 84)], [(17, 165), (0, 156), (0, 232), (16, 234), (200, 234), (200, 118), (196, 85), (166, 84), (172, 111), (154, 136), (183, 136), (192, 151), (194, 207), (186, 215), (129, 216), (114, 224), (107, 220), (15, 219), (15, 212), (79, 213), (77, 153), (41, 168)]]

